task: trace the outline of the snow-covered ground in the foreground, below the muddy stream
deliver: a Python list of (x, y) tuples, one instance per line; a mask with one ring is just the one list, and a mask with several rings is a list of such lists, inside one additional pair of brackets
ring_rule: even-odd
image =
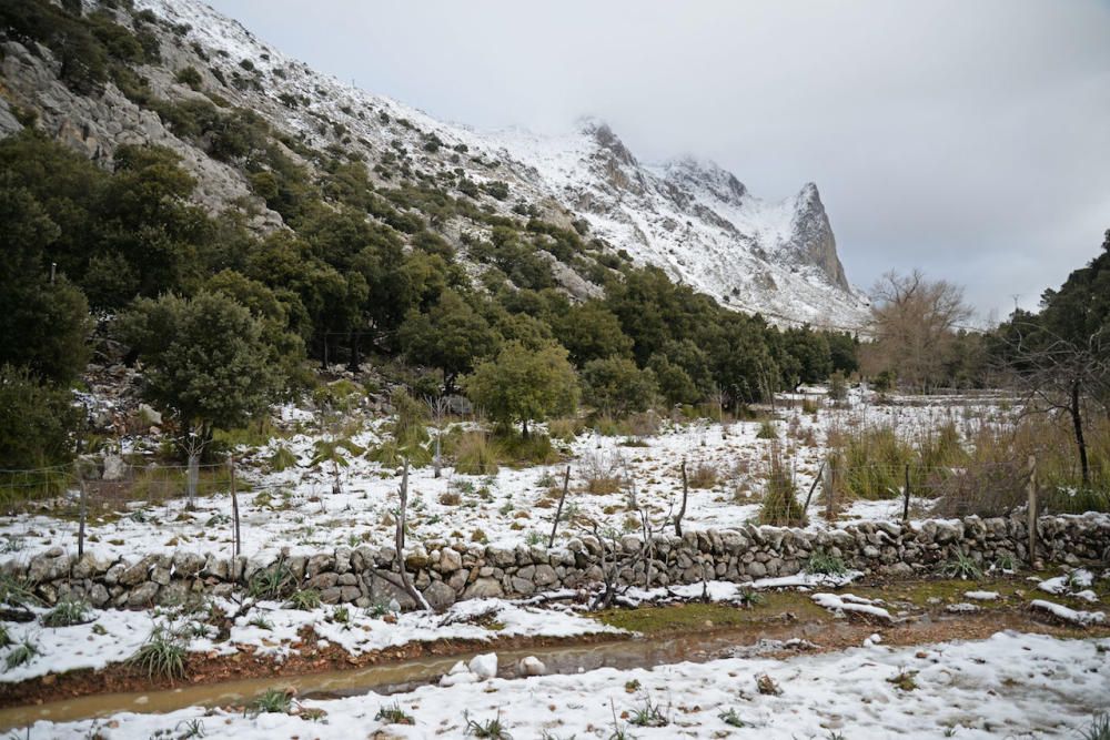
[[(733, 658), (654, 669), (491, 679), (303, 702), (301, 716), (191, 708), (169, 714), (38, 722), (28, 736), (105, 740), (460, 738), (467, 719), (500, 719), (513, 738), (1079, 737), (1110, 697), (1110, 640), (999, 632), (986, 640), (882, 645), (788, 660)], [(763, 680), (761, 677), (764, 678)], [(760, 687), (763, 691), (760, 691)], [(778, 691), (778, 693), (775, 693)], [(396, 707), (414, 724), (387, 724)], [(652, 708), (655, 708), (652, 711)], [(319, 719), (304, 717), (322, 710)], [(465, 712), (465, 713), (464, 713)], [(662, 727), (634, 722), (647, 714)], [(157, 734), (173, 730), (164, 736)], [(507, 737), (507, 736), (506, 736)]]

